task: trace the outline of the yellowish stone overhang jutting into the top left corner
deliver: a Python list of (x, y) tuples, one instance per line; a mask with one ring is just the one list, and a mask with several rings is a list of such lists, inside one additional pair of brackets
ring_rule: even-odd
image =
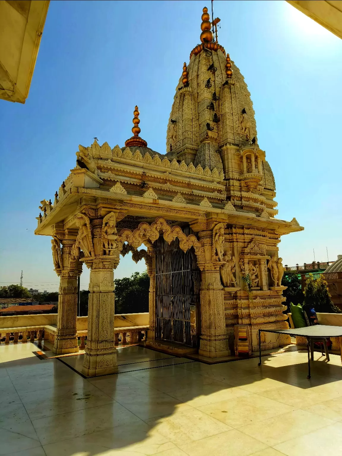
[[(25, 103), (49, 0), (0, 2), (0, 98)], [(10, 45), (9, 45), (10, 43)]]

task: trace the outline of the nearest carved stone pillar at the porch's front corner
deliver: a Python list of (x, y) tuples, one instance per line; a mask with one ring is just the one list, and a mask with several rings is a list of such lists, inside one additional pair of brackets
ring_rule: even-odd
[(119, 251), (102, 255), (102, 244), (97, 233), (98, 220), (92, 222), (96, 258), (84, 258), (90, 270), (88, 303), (88, 338), (85, 347), (84, 375), (95, 377), (117, 372), (114, 336), (114, 271), (119, 264)]

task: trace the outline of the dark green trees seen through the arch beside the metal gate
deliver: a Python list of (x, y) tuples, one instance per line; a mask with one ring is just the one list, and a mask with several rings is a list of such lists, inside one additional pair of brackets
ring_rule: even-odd
[(115, 279), (115, 313), (149, 311), (150, 277), (147, 272), (134, 272), (130, 277)]

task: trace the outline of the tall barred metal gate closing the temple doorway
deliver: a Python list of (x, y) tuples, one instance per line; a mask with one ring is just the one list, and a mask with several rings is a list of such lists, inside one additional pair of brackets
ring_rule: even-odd
[(160, 236), (155, 242), (157, 339), (197, 346), (197, 336), (190, 333), (190, 304), (199, 301), (199, 283), (193, 249), (184, 253), (178, 239), (169, 245)]

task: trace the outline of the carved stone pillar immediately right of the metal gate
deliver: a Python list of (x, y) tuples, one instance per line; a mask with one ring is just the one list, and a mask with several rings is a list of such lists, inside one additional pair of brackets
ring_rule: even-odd
[(212, 261), (212, 231), (201, 231), (198, 238), (205, 254), (201, 271), (201, 336), (199, 354), (210, 358), (228, 356), (224, 313), (224, 291), (220, 279), (220, 262)]

